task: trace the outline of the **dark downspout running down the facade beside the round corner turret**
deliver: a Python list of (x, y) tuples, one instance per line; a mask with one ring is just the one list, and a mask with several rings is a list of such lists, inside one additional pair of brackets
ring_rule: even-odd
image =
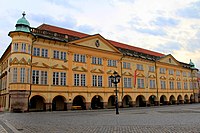
[(32, 91), (32, 61), (33, 61), (33, 43), (37, 40), (37, 37), (34, 38), (34, 40), (32, 41), (32, 45), (31, 45), (31, 61), (30, 61), (30, 75), (29, 75), (29, 82), (30, 82), (30, 91), (29, 91), (29, 95), (28, 95), (28, 112), (29, 112), (29, 106), (30, 106), (30, 102), (29, 102), (29, 99), (30, 99), (30, 96), (31, 96), (31, 91)]

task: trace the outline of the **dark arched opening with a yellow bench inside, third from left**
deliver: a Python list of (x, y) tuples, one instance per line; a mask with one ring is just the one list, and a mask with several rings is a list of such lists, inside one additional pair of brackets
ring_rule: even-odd
[(72, 108), (76, 109), (86, 109), (85, 98), (83, 96), (76, 96), (73, 100)]

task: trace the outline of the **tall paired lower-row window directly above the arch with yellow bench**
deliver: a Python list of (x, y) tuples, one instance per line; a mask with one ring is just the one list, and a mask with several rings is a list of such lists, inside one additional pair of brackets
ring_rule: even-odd
[(74, 74), (74, 86), (86, 86), (85, 74)]

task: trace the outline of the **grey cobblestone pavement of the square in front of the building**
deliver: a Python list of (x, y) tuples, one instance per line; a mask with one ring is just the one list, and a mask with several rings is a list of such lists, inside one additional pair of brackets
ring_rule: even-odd
[[(0, 114), (0, 132), (200, 133), (200, 104), (115, 110)], [(5, 123), (5, 125), (2, 125)], [(9, 133), (11, 131), (8, 131)]]

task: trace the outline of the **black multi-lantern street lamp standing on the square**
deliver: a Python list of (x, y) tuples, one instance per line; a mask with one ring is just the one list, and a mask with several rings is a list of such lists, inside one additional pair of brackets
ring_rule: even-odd
[(113, 75), (109, 77), (111, 79), (111, 82), (115, 85), (115, 108), (116, 108), (116, 114), (119, 114), (118, 111), (118, 96), (117, 96), (117, 84), (120, 82), (120, 76), (119, 74), (114, 71)]

